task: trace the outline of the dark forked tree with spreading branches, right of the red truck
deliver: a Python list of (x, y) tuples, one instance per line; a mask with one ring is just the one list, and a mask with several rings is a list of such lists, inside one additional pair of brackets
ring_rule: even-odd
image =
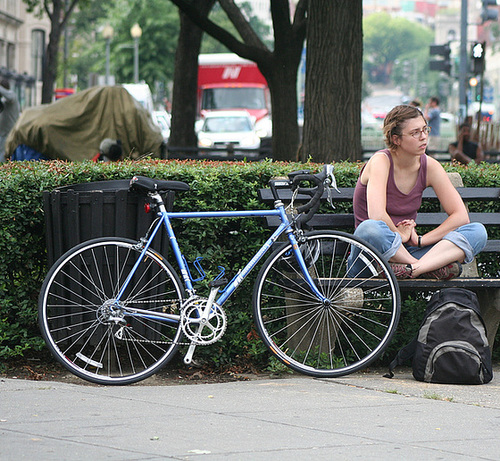
[[(258, 37), (233, 0), (219, 0), (240, 37), (223, 29), (196, 8), (194, 1), (171, 0), (202, 30), (219, 40), (233, 53), (254, 61), (268, 82), (273, 110), (273, 157), (295, 160), (299, 143), (297, 124), (297, 69), (306, 33), (307, 0), (299, 0), (293, 21), (288, 0), (271, 0), (274, 29), (274, 49)], [(193, 69), (191, 69), (193, 70)], [(175, 85), (180, 84), (174, 81)], [(175, 91), (175, 90), (174, 90)], [(179, 117), (173, 112), (173, 118)], [(179, 118), (182, 118), (182, 114)], [(184, 129), (191, 120), (179, 120)]]

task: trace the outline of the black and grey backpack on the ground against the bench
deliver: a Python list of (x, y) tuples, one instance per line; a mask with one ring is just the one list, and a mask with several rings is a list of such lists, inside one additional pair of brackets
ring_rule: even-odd
[(445, 288), (427, 304), (418, 334), (389, 365), (413, 359), (413, 377), (442, 384), (485, 384), (492, 380), (491, 352), (475, 293)]

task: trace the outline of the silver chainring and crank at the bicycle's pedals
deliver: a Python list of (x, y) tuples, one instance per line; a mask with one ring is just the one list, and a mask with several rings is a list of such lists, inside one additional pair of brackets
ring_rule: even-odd
[(204, 298), (188, 300), (181, 311), (181, 328), (184, 335), (192, 343), (200, 346), (217, 342), (227, 327), (226, 313), (216, 303), (212, 304), (208, 318), (202, 318), (207, 301)]

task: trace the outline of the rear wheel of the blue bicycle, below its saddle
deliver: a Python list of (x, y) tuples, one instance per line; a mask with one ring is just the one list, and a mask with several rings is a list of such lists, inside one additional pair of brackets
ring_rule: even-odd
[(45, 278), (38, 307), (43, 338), (62, 365), (87, 381), (145, 379), (178, 349), (180, 280), (149, 249), (123, 288), (139, 255), (132, 240), (90, 240), (61, 256)]

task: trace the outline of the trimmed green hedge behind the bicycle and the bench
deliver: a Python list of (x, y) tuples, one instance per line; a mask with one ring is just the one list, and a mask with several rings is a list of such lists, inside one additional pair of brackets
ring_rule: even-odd
[[(339, 186), (352, 187), (362, 164), (336, 164)], [(188, 182), (190, 192), (176, 195), (175, 210), (233, 210), (262, 208), (257, 190), (267, 187), (273, 176), (317, 164), (277, 162), (196, 162), (141, 160), (97, 164), (12, 162), (0, 166), (0, 362), (27, 356), (44, 348), (39, 335), (37, 298), (47, 272), (42, 192), (59, 186), (85, 182), (129, 179), (139, 174)], [(498, 186), (499, 165), (446, 165), (458, 171), (467, 186)], [(335, 210), (342, 212), (349, 205)], [(498, 210), (498, 203), (478, 203), (475, 209)], [(496, 208), (494, 208), (496, 207)], [(326, 211), (326, 210), (325, 210)], [(259, 219), (183, 220), (175, 223), (188, 261), (203, 256), (202, 265), (209, 275), (224, 266), (228, 276), (241, 269), (263, 243), (268, 231)], [(496, 235), (496, 238), (500, 238)], [(202, 244), (200, 244), (200, 242)], [(495, 258), (482, 256), (484, 272), (498, 274)], [(257, 271), (242, 284), (228, 302), (228, 329), (222, 340), (199, 347), (196, 358), (212, 366), (244, 365), (265, 368), (268, 354), (255, 338), (252, 327), (252, 285)], [(206, 283), (206, 281), (205, 281)], [(387, 355), (391, 356), (415, 332), (425, 307), (422, 296), (405, 302), (402, 321)], [(417, 315), (418, 314), (418, 315)]]

